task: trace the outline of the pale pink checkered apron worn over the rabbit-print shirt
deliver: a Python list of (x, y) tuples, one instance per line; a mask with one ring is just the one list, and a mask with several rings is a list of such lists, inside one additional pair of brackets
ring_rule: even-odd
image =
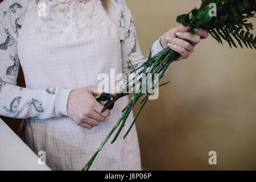
[[(73, 13), (77, 3), (72, 5)], [(69, 6), (68, 3), (65, 6)], [(93, 8), (93, 15), (88, 19), (90, 22), (60, 31), (57, 26), (51, 28), (47, 22), (38, 24), (38, 7), (30, 3), (18, 39), (18, 55), (27, 88), (97, 86), (100, 82), (98, 74), (110, 76), (110, 69), (122, 73), (121, 46), (115, 23), (106, 14), (100, 0), (86, 1), (82, 6)], [(52, 22), (54, 25), (54, 20)], [(106, 121), (91, 130), (78, 126), (68, 117), (29, 119), (26, 143), (36, 154), (45, 151), (46, 163), (53, 170), (81, 170), (109, 134), (128, 102), (128, 97), (118, 100)], [(123, 140), (132, 121), (131, 114), (118, 139), (113, 144), (110, 141), (114, 136), (109, 139), (90, 169), (141, 170), (135, 127)]]

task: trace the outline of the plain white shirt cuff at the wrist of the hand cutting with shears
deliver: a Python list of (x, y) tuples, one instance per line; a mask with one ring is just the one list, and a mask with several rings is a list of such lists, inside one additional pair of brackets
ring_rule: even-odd
[(59, 88), (56, 92), (55, 98), (55, 114), (57, 117), (61, 117), (63, 115), (68, 116), (68, 97), (69, 93), (71, 93), (72, 89), (63, 89)]

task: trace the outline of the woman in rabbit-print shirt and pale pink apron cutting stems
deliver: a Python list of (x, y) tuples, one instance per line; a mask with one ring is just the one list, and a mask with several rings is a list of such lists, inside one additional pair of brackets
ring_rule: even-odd
[[(143, 63), (134, 20), (123, 0), (5, 0), (0, 27), (0, 115), (26, 119), (26, 143), (46, 152), (54, 170), (80, 170), (119, 118), (128, 97), (111, 111), (94, 99), (97, 76), (127, 73)], [(156, 40), (152, 52), (170, 46), (191, 55), (204, 30), (175, 27)], [(179, 36), (181, 39), (175, 38)], [(186, 39), (187, 41), (183, 40)], [(19, 64), (27, 88), (16, 86)], [(126, 131), (133, 115), (127, 119)], [(90, 129), (90, 130), (88, 130)], [(141, 170), (135, 127), (123, 142), (106, 143), (90, 169)]]

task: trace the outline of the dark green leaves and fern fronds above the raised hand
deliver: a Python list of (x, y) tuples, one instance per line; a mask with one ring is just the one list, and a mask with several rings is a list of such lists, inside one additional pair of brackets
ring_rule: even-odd
[[(210, 3), (216, 3), (217, 16), (209, 15)], [(195, 28), (203, 28), (220, 44), (225, 40), (231, 48), (237, 48), (237, 42), (240, 47), (244, 44), (253, 49), (256, 47), (256, 37), (250, 33), (253, 24), (246, 19), (255, 15), (255, 9), (256, 0), (202, 0), (199, 9), (178, 16), (177, 22), (191, 26), (192, 35)]]

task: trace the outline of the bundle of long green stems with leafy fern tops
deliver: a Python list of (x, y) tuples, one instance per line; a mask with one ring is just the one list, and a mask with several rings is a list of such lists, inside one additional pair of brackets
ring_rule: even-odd
[[(216, 9), (213, 9), (214, 6), (211, 6), (212, 3), (216, 5)], [(255, 7), (256, 0), (202, 0), (199, 9), (194, 8), (188, 14), (178, 16), (177, 22), (183, 24), (184, 26), (192, 27), (190, 31), (192, 35), (194, 34), (196, 28), (203, 28), (204, 30), (207, 30), (209, 34), (217, 40), (218, 43), (223, 44), (223, 40), (225, 40), (228, 42), (230, 47), (234, 46), (237, 48), (237, 45), (234, 41), (235, 39), (241, 47), (243, 43), (246, 47), (253, 49), (256, 48), (256, 38), (249, 32), (249, 30), (253, 30), (253, 24), (247, 23), (247, 19), (255, 15)], [(217, 16), (211, 16), (210, 12), (212, 11), (216, 11)], [(133, 93), (129, 104), (122, 111), (121, 117), (118, 119), (117, 123), (110, 131), (108, 136), (102, 141), (100, 147), (97, 148), (97, 151), (94, 153), (92, 158), (90, 158), (90, 160), (82, 168), (82, 171), (88, 170), (90, 166), (92, 166), (92, 163), (98, 152), (102, 150), (105, 143), (109, 140), (114, 131), (119, 127), (111, 143), (115, 142), (121, 130), (125, 126), (126, 119), (128, 118), (131, 110), (139, 98), (144, 96), (141, 101), (141, 108), (139, 109), (137, 115), (135, 115), (134, 121), (131, 123), (123, 139), (125, 139), (127, 134), (129, 134), (143, 107), (148, 102), (148, 98), (154, 92), (154, 89), (156, 87), (168, 84), (168, 82), (166, 82), (159, 85), (158, 82), (163, 78), (168, 67), (170, 67), (170, 64), (173, 61), (179, 59), (180, 54), (167, 47), (156, 55), (151, 55), (152, 52), (150, 50), (147, 60), (144, 61), (144, 63), (139, 67), (133, 67), (133, 70), (126, 75), (129, 76), (133, 73), (137, 73), (137, 75), (126, 82), (126, 86), (127, 89), (129, 89), (131, 85), (134, 85), (134, 81), (137, 80), (138, 75), (141, 75), (142, 73), (145, 75), (154, 75), (158, 73), (159, 79), (155, 82), (153, 81), (152, 89), (146, 90), (146, 93), (142, 93), (142, 87), (147, 84), (147, 80), (146, 82), (139, 80), (141, 84), (135, 90), (135, 93)]]

